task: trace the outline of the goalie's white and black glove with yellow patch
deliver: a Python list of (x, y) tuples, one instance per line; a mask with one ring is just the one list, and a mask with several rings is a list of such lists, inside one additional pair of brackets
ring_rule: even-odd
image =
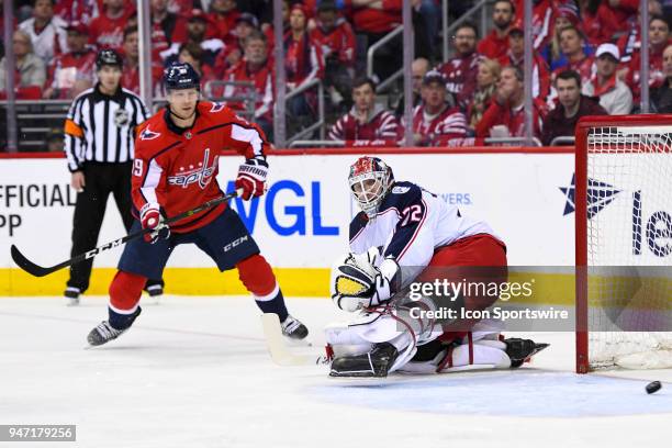
[(348, 312), (380, 305), (396, 292), (399, 265), (387, 258), (380, 267), (380, 253), (371, 248), (366, 254), (348, 254), (332, 268), (332, 300), (339, 309)]

